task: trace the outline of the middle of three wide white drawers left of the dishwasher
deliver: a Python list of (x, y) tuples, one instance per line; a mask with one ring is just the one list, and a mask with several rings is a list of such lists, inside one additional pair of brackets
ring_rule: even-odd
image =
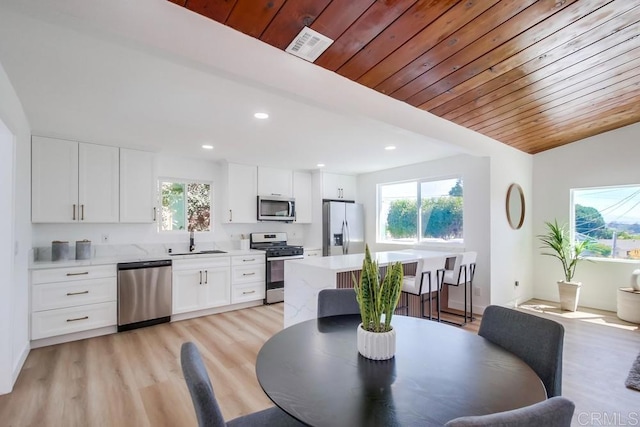
[(115, 301), (117, 295), (116, 284), (115, 277), (44, 283), (33, 287), (31, 309), (33, 311), (42, 311)]

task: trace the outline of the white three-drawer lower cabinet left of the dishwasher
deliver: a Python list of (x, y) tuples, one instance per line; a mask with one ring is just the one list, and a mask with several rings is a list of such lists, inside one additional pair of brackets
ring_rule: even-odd
[(31, 339), (117, 323), (116, 266), (69, 267), (31, 273)]

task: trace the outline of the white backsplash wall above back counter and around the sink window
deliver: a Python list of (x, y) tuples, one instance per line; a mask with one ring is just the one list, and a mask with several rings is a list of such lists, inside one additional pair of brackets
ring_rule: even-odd
[[(70, 130), (71, 132), (72, 130)], [(85, 141), (89, 142), (89, 141)], [(218, 163), (188, 159), (177, 156), (158, 155), (156, 173), (162, 178), (191, 179), (213, 183), (213, 231), (196, 233), (198, 244), (217, 244), (222, 248), (239, 247), (242, 234), (257, 231), (285, 231), (292, 244), (303, 244), (306, 226), (302, 224), (280, 224), (263, 222), (257, 224), (223, 224), (220, 221), (219, 190), (222, 168)], [(109, 244), (156, 244), (176, 243), (188, 246), (188, 232), (159, 233), (156, 224), (33, 224), (33, 246), (48, 247), (53, 240), (88, 239), (94, 245), (101, 244), (103, 234), (109, 235)]]

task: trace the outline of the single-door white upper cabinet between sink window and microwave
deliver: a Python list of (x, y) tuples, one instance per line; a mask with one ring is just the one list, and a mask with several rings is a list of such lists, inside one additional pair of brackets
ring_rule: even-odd
[(221, 188), (221, 219), (225, 223), (257, 222), (257, 166), (223, 163), (224, 183)]

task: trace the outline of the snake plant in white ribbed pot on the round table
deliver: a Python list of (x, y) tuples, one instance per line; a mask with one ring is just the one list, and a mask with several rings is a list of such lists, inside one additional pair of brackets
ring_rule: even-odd
[(398, 262), (389, 265), (384, 279), (380, 280), (378, 263), (371, 259), (366, 246), (360, 278), (352, 275), (362, 317), (357, 332), (358, 351), (366, 358), (386, 360), (395, 355), (396, 331), (391, 326), (391, 318), (400, 299), (403, 274), (402, 264)]

